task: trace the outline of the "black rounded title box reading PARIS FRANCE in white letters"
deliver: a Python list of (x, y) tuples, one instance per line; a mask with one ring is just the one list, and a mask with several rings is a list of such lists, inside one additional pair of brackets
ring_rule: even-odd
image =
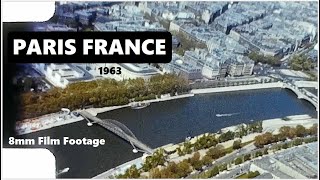
[[(102, 48), (97, 50), (98, 54), (96, 47)], [(10, 32), (7, 49), (10, 63), (168, 63), (172, 57), (172, 36), (169, 32)]]

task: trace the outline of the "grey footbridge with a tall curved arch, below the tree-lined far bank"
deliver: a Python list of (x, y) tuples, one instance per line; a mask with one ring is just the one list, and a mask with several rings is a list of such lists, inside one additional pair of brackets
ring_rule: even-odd
[(119, 121), (113, 119), (100, 119), (88, 113), (87, 111), (79, 111), (78, 112), (83, 118), (85, 118), (89, 122), (97, 123), (100, 126), (106, 128), (112, 133), (118, 135), (122, 139), (128, 141), (134, 149), (139, 151), (152, 154), (153, 149), (149, 148), (147, 145), (143, 144), (139, 141), (136, 136), (130, 131), (130, 129)]

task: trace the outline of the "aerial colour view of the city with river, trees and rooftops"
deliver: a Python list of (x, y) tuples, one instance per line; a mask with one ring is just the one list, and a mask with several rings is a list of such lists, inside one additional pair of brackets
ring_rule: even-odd
[(32, 28), (172, 34), (170, 63), (16, 65), (9, 145), (57, 178), (319, 178), (317, 1), (57, 2)]

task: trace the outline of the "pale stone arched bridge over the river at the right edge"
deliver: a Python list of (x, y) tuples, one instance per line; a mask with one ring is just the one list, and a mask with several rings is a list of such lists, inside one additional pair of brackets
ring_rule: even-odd
[(290, 89), (298, 96), (298, 99), (309, 101), (316, 108), (316, 111), (319, 111), (318, 98), (312, 93), (309, 93), (305, 89), (299, 88), (295, 84), (290, 82), (283, 83), (283, 88)]

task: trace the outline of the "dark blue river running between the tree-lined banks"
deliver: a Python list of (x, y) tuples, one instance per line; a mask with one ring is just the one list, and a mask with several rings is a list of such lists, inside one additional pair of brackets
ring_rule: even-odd
[[(237, 113), (229, 117), (216, 114)], [(289, 90), (268, 89), (242, 92), (196, 95), (191, 98), (152, 103), (149, 107), (133, 110), (124, 108), (100, 114), (100, 118), (116, 119), (127, 125), (138, 139), (152, 148), (184, 141), (187, 136), (216, 132), (221, 128), (250, 123), (252, 120), (279, 118), (288, 115), (310, 114), (315, 108), (299, 100)], [(26, 138), (50, 136), (60, 138), (105, 138), (106, 145), (48, 146), (57, 161), (57, 170), (69, 167), (63, 178), (91, 178), (110, 168), (135, 159), (126, 141), (107, 130), (85, 121), (26, 135)], [(44, 147), (44, 146), (41, 146)]]

